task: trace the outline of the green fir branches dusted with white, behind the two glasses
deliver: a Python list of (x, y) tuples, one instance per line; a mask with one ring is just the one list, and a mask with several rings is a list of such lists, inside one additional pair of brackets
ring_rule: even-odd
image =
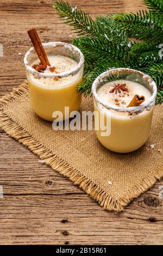
[(163, 44), (163, 0), (145, 3), (150, 11), (108, 14), (95, 20), (67, 2), (54, 3), (61, 19), (79, 35), (73, 44), (85, 56), (78, 92), (89, 95), (95, 78), (106, 70), (133, 68), (153, 77), (159, 88), (156, 103), (163, 103), (163, 64), (159, 54), (159, 45)]

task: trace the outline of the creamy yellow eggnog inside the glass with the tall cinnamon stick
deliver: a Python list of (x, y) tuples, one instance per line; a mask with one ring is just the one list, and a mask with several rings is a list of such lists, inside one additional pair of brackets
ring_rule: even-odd
[[(66, 56), (47, 56), (51, 66), (44, 70), (45, 75), (59, 74), (70, 71), (77, 66), (77, 62)], [(39, 63), (39, 59), (32, 66)], [(61, 111), (64, 119), (65, 106), (71, 111), (78, 111), (82, 96), (77, 92), (77, 85), (82, 81), (82, 73), (78, 76), (54, 77), (39, 79), (33, 74), (27, 76), (30, 103), (37, 115), (45, 120), (53, 121), (54, 111)]]

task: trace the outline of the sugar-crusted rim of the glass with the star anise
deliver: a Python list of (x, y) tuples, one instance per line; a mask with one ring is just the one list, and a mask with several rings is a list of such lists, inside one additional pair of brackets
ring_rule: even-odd
[[(151, 86), (153, 88), (153, 93), (152, 93), (151, 97), (149, 97), (149, 99), (146, 100), (145, 102), (141, 103), (140, 106), (119, 107), (119, 106), (110, 105), (110, 104), (104, 103), (96, 92), (99, 82), (101, 82), (104, 77), (113, 75), (114, 73), (118, 74), (123, 71), (126, 71), (126, 72), (128, 71), (131, 74), (135, 74), (135, 75), (141, 75), (143, 77), (143, 79), (145, 79), (147, 82), (149, 82), (149, 86)], [(107, 109), (114, 109), (118, 112), (140, 113), (140, 112), (144, 111), (145, 109), (150, 110), (153, 107), (153, 105), (155, 104), (156, 93), (157, 93), (157, 87), (156, 87), (156, 84), (151, 76), (146, 75), (141, 71), (138, 71), (135, 69), (129, 69), (129, 68), (117, 68), (117, 69), (110, 69), (108, 71), (105, 71), (101, 75), (99, 75), (92, 84), (92, 94), (95, 97), (96, 101), (98, 103), (100, 103), (103, 107), (105, 107)]]

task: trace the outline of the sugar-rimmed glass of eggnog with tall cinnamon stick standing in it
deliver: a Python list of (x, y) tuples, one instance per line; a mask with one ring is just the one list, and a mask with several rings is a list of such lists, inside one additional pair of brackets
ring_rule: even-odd
[(77, 86), (83, 77), (84, 56), (77, 47), (65, 42), (42, 45), (51, 64), (45, 70), (34, 47), (24, 57), (30, 103), (39, 117), (53, 121), (53, 112), (59, 111), (64, 120), (65, 107), (69, 107), (70, 113), (78, 111), (82, 101)]

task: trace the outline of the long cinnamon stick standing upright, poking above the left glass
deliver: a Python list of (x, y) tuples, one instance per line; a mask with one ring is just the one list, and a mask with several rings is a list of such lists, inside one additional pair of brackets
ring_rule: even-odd
[(30, 29), (28, 31), (28, 35), (30, 37), (30, 40), (32, 41), (32, 44), (35, 48), (37, 56), (40, 59), (41, 64), (50, 66), (51, 64), (49, 63), (46, 52), (42, 46), (41, 39), (39, 38), (39, 35), (36, 32), (36, 29), (35, 28)]

